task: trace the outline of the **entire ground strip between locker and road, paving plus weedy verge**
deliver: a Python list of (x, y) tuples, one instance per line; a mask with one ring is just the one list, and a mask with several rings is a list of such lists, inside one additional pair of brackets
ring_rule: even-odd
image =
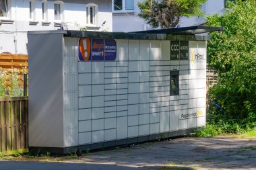
[[(61, 163), (51, 163), (56, 161)], [(74, 155), (20, 156), (0, 161), (0, 170), (170, 170), (162, 166), (187, 167), (183, 170), (256, 170), (256, 138), (184, 137), (85, 153), (82, 159)]]

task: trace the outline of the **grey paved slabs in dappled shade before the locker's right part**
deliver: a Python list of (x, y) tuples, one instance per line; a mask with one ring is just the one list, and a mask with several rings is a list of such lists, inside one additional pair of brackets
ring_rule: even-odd
[(198, 170), (256, 169), (256, 138), (177, 138), (99, 151), (86, 163), (128, 167), (186, 166)]

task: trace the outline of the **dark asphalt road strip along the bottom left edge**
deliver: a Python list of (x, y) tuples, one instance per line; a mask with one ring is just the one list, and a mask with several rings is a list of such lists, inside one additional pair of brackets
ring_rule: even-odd
[(0, 161), (1, 170), (152, 170), (146, 167), (122, 167), (87, 163), (45, 163), (33, 161)]

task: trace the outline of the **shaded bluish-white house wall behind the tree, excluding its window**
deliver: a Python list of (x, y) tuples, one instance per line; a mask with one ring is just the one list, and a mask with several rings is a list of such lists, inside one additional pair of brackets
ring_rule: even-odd
[[(134, 14), (113, 14), (113, 32), (134, 32), (141, 30), (151, 30), (150, 26), (146, 24), (137, 14), (139, 8), (137, 2), (141, 0), (134, 0), (135, 10)], [(224, 9), (224, 0), (208, 0), (202, 5), (202, 11), (205, 16), (212, 15), (214, 13), (222, 13)], [(183, 17), (179, 24), (179, 27), (186, 26), (198, 26), (205, 22), (204, 17)]]

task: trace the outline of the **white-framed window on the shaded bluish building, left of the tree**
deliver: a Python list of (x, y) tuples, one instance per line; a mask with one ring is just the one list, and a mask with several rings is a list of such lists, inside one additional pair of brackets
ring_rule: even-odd
[(114, 12), (131, 12), (134, 10), (134, 0), (113, 0)]

